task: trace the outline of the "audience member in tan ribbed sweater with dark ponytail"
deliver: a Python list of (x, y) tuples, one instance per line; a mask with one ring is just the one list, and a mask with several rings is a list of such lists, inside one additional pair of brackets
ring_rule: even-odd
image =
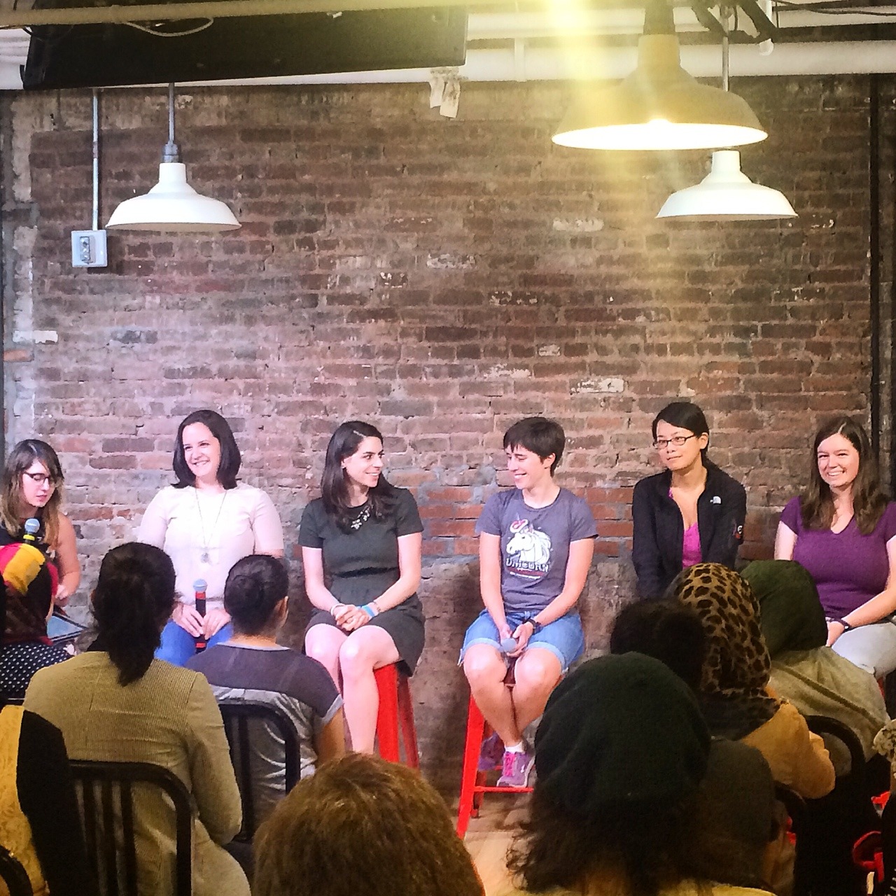
[[(237, 861), (217, 844), (239, 830), (240, 800), (209, 683), (153, 653), (175, 604), (175, 572), (158, 547), (133, 543), (103, 558), (93, 592), (91, 650), (41, 669), (25, 706), (56, 725), (73, 759), (152, 762), (184, 781), (196, 806), (194, 896), (248, 896)], [(140, 896), (174, 891), (174, 815), (166, 800), (134, 795)]]

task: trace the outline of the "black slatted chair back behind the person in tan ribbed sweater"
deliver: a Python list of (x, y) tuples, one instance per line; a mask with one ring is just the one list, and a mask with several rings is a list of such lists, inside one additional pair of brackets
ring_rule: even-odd
[(159, 788), (174, 804), (174, 893), (191, 896), (193, 807), (184, 782), (172, 771), (150, 762), (73, 760), (71, 764), (80, 796), (87, 855), (102, 896), (138, 896), (134, 785), (144, 784)]

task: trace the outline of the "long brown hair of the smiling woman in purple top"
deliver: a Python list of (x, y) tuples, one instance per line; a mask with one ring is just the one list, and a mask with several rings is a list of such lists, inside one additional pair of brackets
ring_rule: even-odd
[(834, 519), (831, 487), (818, 470), (818, 446), (831, 435), (842, 435), (858, 452), (858, 472), (852, 483), (852, 508), (862, 535), (870, 535), (886, 510), (887, 496), (881, 490), (877, 460), (862, 425), (851, 417), (825, 420), (815, 434), (809, 466), (809, 487), (800, 495), (800, 512), (806, 529), (830, 529)]

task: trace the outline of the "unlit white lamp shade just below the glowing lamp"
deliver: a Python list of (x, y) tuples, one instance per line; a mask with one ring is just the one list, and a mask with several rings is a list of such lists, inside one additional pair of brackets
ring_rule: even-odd
[(784, 194), (746, 177), (737, 150), (719, 150), (712, 153), (710, 173), (698, 185), (669, 196), (657, 217), (752, 221), (796, 218), (797, 212)]

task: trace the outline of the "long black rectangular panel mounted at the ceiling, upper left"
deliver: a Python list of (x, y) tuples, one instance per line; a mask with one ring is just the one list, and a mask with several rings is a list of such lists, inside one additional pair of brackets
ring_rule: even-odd
[[(38, 0), (34, 9), (89, 5)], [(136, 10), (134, 11), (136, 14)], [(463, 65), (462, 7), (32, 28), (26, 90)], [(208, 27), (202, 28), (203, 24)], [(195, 30), (195, 29), (201, 30)], [(166, 35), (194, 30), (177, 37)]]

